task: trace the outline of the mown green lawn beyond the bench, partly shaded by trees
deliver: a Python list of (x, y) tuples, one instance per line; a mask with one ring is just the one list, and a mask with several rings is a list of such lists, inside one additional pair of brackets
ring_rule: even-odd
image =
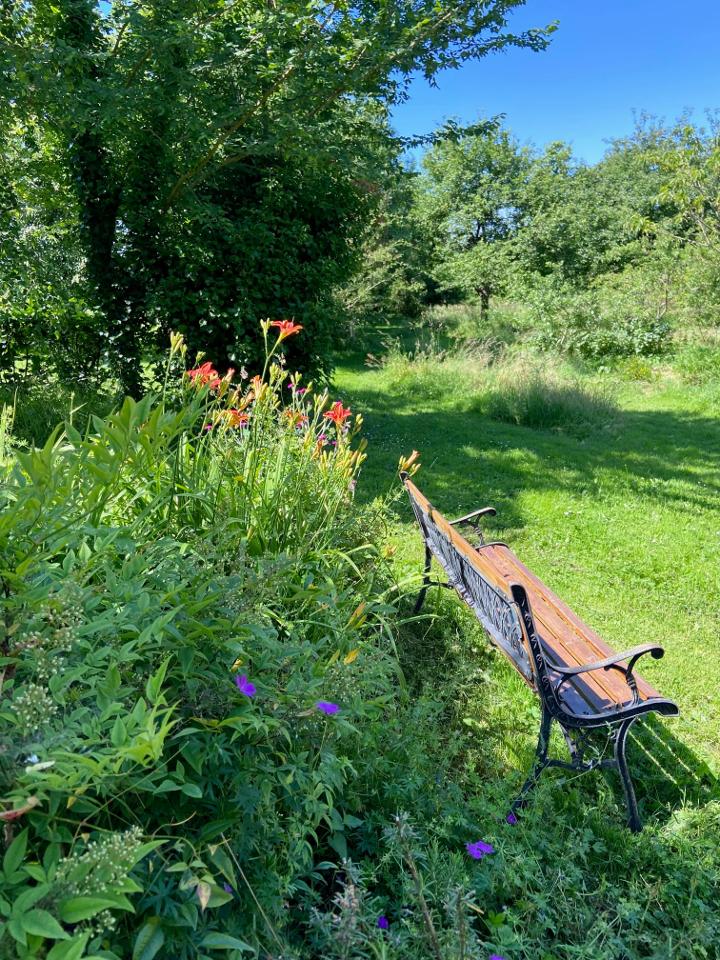
[[(361, 363), (341, 367), (335, 383), (365, 417), (358, 496), (385, 492), (399, 455), (417, 449), (417, 481), (443, 512), (495, 506), (493, 537), (615, 649), (665, 647), (641, 672), (680, 705), (668, 736), (717, 776), (720, 391), (673, 379), (626, 384), (616, 423), (578, 439), (493, 421), (462, 390), (398, 391), (385, 371)], [(404, 501), (395, 542), (401, 562), (419, 571), (421, 543)]]

